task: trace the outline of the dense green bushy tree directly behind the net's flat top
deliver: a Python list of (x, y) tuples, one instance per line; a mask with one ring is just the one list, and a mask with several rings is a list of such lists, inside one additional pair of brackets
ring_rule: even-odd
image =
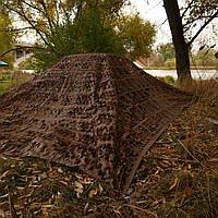
[(108, 10), (111, 11), (111, 8), (106, 2), (87, 1), (77, 11), (76, 16), (56, 25), (52, 32), (45, 37), (47, 45), (43, 45), (44, 49), (35, 50), (38, 66), (43, 70), (48, 69), (64, 56), (72, 53), (110, 52), (124, 55), (122, 41), (111, 25), (112, 14)]

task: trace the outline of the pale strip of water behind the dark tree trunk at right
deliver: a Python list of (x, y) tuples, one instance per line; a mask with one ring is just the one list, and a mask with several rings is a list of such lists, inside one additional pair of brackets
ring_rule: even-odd
[[(166, 76), (170, 75), (174, 78), (178, 77), (175, 70), (145, 70), (146, 73), (149, 73), (153, 76)], [(208, 80), (213, 77), (218, 77), (218, 70), (191, 70), (193, 78)]]

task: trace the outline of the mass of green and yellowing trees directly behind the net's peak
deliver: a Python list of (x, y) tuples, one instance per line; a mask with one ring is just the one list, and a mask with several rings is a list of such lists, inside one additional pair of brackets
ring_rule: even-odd
[[(140, 16), (122, 17), (120, 10), (128, 2), (2, 0), (0, 4), (26, 24), (25, 31), (36, 32), (38, 40), (34, 53), (38, 66), (45, 70), (62, 57), (80, 52), (110, 52), (132, 60), (147, 57), (154, 43), (154, 26)], [(128, 48), (130, 38), (131, 50)]]

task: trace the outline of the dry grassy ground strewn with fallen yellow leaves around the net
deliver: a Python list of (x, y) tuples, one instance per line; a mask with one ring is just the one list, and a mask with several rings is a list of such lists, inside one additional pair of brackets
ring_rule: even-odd
[(217, 218), (218, 81), (185, 89), (198, 100), (148, 150), (124, 198), (77, 169), (1, 156), (0, 217)]

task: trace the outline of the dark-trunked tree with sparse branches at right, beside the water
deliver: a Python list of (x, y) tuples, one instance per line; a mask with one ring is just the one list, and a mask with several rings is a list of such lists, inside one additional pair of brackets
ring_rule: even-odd
[[(180, 9), (177, 0), (164, 0), (164, 5), (168, 16), (170, 29), (172, 33), (172, 40), (175, 49), (177, 59), (177, 72), (179, 83), (191, 80), (190, 72), (190, 60), (189, 60), (189, 49), (197, 36), (203, 32), (203, 29), (218, 15), (218, 11), (215, 10), (217, 0), (192, 0), (187, 1), (189, 5), (184, 9), (183, 14), (180, 14)], [(209, 7), (206, 7), (209, 5)], [(189, 16), (193, 15), (194, 20), (186, 20), (186, 26), (182, 25), (182, 17), (189, 12)], [(204, 23), (201, 25), (199, 29), (194, 34), (192, 38), (187, 41), (184, 38), (184, 31), (189, 31), (194, 22), (199, 21), (204, 17)]]

